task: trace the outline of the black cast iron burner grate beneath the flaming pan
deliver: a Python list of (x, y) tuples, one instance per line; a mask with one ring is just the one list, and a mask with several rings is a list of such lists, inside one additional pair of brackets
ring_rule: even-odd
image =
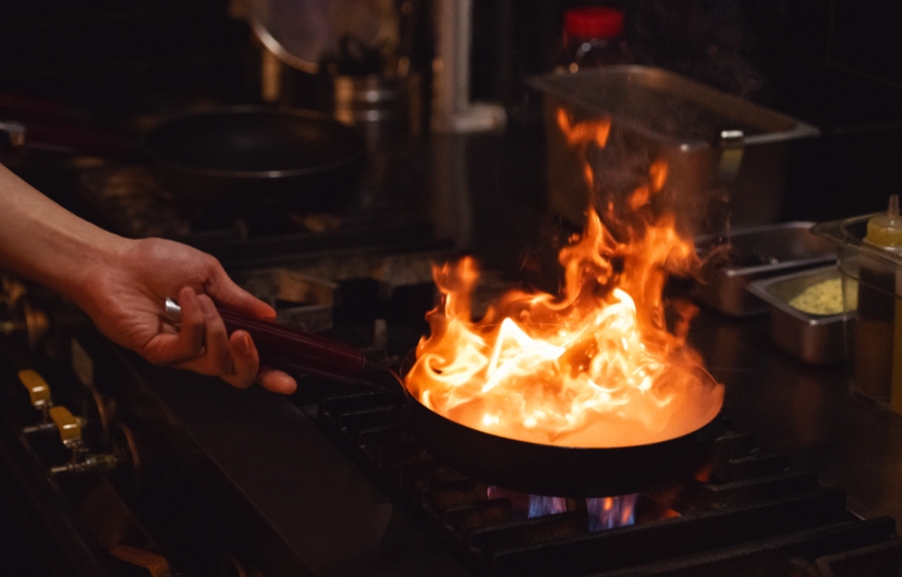
[[(785, 455), (760, 451), (728, 419), (704, 470), (626, 498), (629, 524), (604, 528), (599, 510), (620, 499), (544, 500), (486, 486), (432, 458), (399, 415), (391, 396), (363, 393), (324, 401), (317, 420), (478, 575), (894, 576), (902, 567), (894, 519), (858, 519), (842, 489), (790, 470)], [(529, 517), (525, 500), (553, 501), (554, 514)]]

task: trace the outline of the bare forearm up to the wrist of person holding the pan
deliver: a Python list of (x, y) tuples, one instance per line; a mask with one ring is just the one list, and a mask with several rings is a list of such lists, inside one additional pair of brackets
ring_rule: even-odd
[(72, 214), (0, 164), (0, 269), (77, 298), (129, 241)]

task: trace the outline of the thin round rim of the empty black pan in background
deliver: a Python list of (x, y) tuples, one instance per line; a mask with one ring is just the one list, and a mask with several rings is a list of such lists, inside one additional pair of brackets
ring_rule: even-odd
[[(329, 163), (319, 164), (317, 167), (307, 167), (303, 169), (288, 169), (288, 170), (260, 170), (260, 171), (247, 171), (247, 170), (227, 170), (227, 169), (204, 169), (197, 168), (192, 164), (186, 164), (184, 162), (179, 162), (171, 158), (166, 157), (164, 155), (160, 154), (157, 147), (153, 147), (149, 145), (149, 140), (153, 138), (155, 133), (159, 133), (162, 128), (167, 126), (171, 126), (178, 124), (183, 121), (187, 121), (190, 119), (197, 119), (203, 116), (218, 116), (218, 115), (234, 115), (234, 114), (271, 114), (271, 115), (292, 115), (298, 116), (307, 120), (315, 120), (321, 122), (322, 124), (328, 124), (339, 131), (343, 131), (345, 134), (351, 136), (357, 142), (357, 150), (353, 155), (349, 155), (345, 158), (334, 160)], [(260, 179), (290, 179), (293, 176), (307, 176), (312, 174), (319, 174), (322, 172), (328, 172), (332, 170), (338, 170), (343, 167), (350, 167), (361, 161), (366, 156), (366, 144), (361, 136), (354, 128), (342, 124), (334, 118), (324, 114), (321, 112), (317, 112), (315, 110), (307, 110), (301, 108), (293, 108), (293, 107), (267, 107), (267, 106), (259, 106), (259, 105), (233, 105), (233, 106), (223, 106), (223, 107), (214, 107), (210, 109), (205, 110), (197, 110), (197, 111), (188, 111), (188, 112), (180, 112), (172, 116), (169, 116), (159, 123), (157, 123), (154, 127), (148, 130), (141, 138), (141, 145), (144, 151), (150, 156), (155, 161), (159, 164), (164, 165), (167, 168), (178, 169), (180, 171), (196, 174), (196, 175), (204, 175), (204, 176), (212, 176), (212, 177), (222, 177), (222, 179), (247, 179), (247, 180), (260, 180)]]

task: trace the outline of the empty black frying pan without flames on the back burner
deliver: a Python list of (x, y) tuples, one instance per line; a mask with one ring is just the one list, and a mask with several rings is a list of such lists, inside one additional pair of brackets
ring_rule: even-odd
[(142, 148), (176, 197), (220, 211), (340, 211), (366, 157), (363, 137), (334, 119), (257, 106), (170, 119), (145, 135)]

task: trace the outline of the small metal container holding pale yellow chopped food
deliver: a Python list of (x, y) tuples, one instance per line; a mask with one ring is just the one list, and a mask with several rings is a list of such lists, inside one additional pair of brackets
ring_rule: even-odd
[(833, 315), (814, 315), (791, 304), (806, 288), (840, 279), (839, 269), (832, 266), (749, 283), (748, 291), (770, 310), (770, 340), (812, 365), (842, 361), (844, 307)]

